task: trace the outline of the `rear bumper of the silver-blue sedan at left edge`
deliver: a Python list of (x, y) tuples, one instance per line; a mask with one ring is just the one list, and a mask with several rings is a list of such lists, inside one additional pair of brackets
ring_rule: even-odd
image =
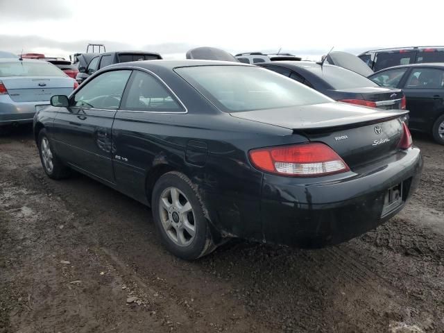
[(0, 126), (11, 123), (32, 123), (35, 105), (49, 105), (48, 101), (15, 102), (10, 96), (0, 96)]

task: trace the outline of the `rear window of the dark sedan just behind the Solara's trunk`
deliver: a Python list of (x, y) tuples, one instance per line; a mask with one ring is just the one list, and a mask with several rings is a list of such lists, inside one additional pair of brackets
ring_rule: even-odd
[(324, 65), (323, 67), (305, 67), (305, 69), (325, 80), (336, 90), (378, 86), (361, 74), (342, 67)]

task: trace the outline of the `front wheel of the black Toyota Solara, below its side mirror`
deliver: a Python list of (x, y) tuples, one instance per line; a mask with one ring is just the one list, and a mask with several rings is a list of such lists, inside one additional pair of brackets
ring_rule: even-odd
[(70, 174), (70, 170), (62, 163), (62, 161), (60, 161), (56, 153), (53, 151), (48, 134), (44, 128), (39, 132), (37, 146), (39, 148), (40, 161), (42, 162), (46, 175), (52, 179), (67, 178)]

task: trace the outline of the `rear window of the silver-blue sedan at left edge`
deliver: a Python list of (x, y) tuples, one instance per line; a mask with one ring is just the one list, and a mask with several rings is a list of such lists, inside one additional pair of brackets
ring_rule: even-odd
[(63, 71), (48, 62), (0, 62), (0, 77), (6, 76), (66, 76)]

